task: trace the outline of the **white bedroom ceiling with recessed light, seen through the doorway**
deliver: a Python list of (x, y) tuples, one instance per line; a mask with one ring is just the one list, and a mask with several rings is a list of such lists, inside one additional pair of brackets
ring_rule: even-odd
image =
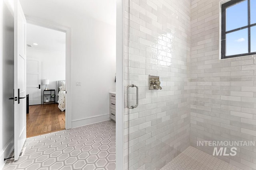
[[(65, 53), (66, 33), (27, 23), (27, 47), (45, 52)], [(37, 43), (38, 45), (33, 45)]]

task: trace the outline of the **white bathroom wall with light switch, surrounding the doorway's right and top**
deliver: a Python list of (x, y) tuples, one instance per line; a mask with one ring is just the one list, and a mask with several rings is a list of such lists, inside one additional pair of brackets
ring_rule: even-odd
[[(72, 29), (72, 127), (109, 119), (108, 92), (115, 88), (116, 73), (115, 25), (96, 20), (75, 9), (65, 10), (64, 5), (56, 6), (50, 0), (21, 0), (21, 4), (27, 16)], [(82, 86), (76, 86), (76, 81), (81, 81)]]

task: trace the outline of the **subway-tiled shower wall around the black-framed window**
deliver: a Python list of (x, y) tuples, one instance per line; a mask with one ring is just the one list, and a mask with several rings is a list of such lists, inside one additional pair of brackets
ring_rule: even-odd
[[(190, 144), (209, 154), (197, 141), (256, 141), (256, 56), (219, 60), (219, 2), (191, 1)], [(237, 149), (218, 158), (255, 170), (256, 147)]]

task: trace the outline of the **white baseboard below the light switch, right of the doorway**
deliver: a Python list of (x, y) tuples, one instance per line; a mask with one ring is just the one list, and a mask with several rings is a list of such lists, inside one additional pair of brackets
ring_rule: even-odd
[(110, 119), (109, 113), (91, 116), (91, 117), (85, 117), (85, 118), (81, 118), (81, 119), (74, 119), (71, 121), (71, 128), (90, 125), (93, 123), (98, 123), (98, 122), (106, 121), (109, 119)]

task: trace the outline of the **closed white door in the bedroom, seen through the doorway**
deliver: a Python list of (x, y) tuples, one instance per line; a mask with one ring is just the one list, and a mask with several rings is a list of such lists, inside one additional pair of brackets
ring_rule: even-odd
[(26, 64), (29, 105), (41, 104), (41, 60), (27, 58)]

